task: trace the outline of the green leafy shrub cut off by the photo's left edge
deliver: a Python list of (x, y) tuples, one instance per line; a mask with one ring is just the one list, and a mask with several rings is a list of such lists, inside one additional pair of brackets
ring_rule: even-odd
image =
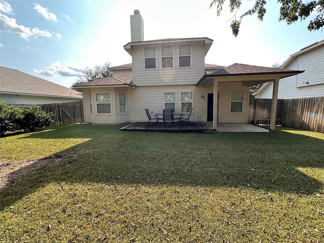
[(23, 118), (22, 109), (5, 102), (0, 103), (0, 134), (21, 130), (20, 120)]

